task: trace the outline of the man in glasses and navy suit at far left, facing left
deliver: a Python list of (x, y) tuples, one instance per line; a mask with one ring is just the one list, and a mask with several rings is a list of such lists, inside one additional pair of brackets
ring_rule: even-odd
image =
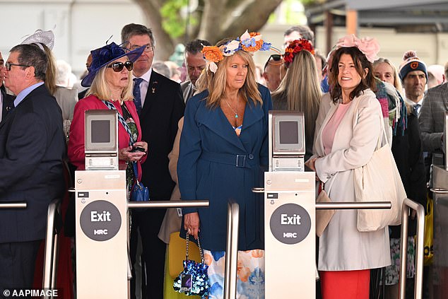
[(0, 201), (28, 206), (0, 210), (0, 290), (33, 286), (48, 204), (65, 188), (61, 109), (43, 82), (45, 52), (37, 45), (18, 45), (10, 52), (4, 81), (17, 97), (0, 123)]

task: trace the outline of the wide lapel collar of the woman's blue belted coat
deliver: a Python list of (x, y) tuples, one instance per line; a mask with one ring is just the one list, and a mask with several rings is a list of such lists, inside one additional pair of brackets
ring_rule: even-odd
[(235, 130), (228, 121), (227, 117), (225, 117), (224, 112), (220, 107), (211, 109), (206, 107), (206, 100), (204, 100), (204, 98), (208, 96), (208, 92), (204, 91), (201, 95), (202, 100), (199, 100), (199, 109), (196, 113), (196, 121), (204, 124), (204, 126), (211, 129), (211, 131), (218, 134), (226, 141), (246, 152), (247, 149), (244, 148), (243, 144), (246, 143), (244, 142), (245, 139), (251, 137), (249, 136), (249, 128), (264, 116), (263, 110), (260, 106), (255, 106), (254, 102), (249, 99), (249, 102), (246, 104), (246, 109), (244, 110), (241, 134), (240, 136), (237, 136), (237, 134), (235, 134)]

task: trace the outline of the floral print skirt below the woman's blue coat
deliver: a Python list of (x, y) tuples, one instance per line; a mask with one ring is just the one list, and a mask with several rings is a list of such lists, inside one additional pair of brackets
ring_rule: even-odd
[[(208, 299), (224, 296), (225, 251), (204, 250), (208, 264)], [(264, 250), (238, 251), (237, 299), (264, 299)]]

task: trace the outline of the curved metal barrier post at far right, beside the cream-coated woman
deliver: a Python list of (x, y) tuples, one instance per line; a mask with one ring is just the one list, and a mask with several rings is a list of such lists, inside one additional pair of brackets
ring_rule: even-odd
[(411, 199), (403, 201), (401, 210), (401, 246), (400, 246), (400, 299), (406, 295), (406, 264), (408, 260), (408, 218), (409, 209), (417, 212), (417, 242), (415, 244), (415, 288), (414, 298), (422, 298), (423, 286), (423, 239), (425, 235), (425, 209)]

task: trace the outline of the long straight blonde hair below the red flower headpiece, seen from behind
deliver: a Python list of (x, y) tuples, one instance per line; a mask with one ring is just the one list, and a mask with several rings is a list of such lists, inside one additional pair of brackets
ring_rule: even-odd
[(286, 98), (288, 110), (304, 113), (305, 135), (307, 140), (312, 140), (322, 91), (316, 61), (310, 52), (302, 50), (295, 54), (272, 98)]

